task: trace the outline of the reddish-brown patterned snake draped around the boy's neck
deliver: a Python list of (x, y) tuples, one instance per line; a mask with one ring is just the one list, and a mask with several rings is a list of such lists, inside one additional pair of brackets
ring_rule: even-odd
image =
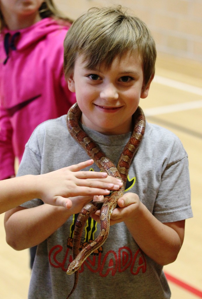
[[(80, 128), (79, 119), (81, 118), (81, 110), (77, 103), (75, 103), (67, 114), (67, 128), (72, 137), (84, 148), (90, 158), (100, 170), (108, 173), (109, 176), (122, 179), (123, 186), (118, 191), (113, 191), (110, 196), (106, 196), (103, 202), (90, 202), (81, 210), (78, 215), (73, 240), (73, 262), (67, 269), (67, 274), (75, 273), (74, 286), (67, 298), (69, 298), (76, 288), (78, 282), (78, 269), (84, 260), (97, 248), (99, 248), (107, 239), (110, 229), (110, 215), (117, 206), (118, 199), (123, 196), (127, 175), (132, 158), (138, 149), (141, 139), (145, 130), (145, 117), (142, 109), (138, 107), (133, 115), (134, 130), (131, 138), (126, 144), (121, 157), (119, 158), (117, 167), (105, 156), (95, 142)], [(100, 211), (100, 227), (101, 231), (99, 236), (79, 252), (81, 234), (88, 217), (95, 213), (96, 210)]]

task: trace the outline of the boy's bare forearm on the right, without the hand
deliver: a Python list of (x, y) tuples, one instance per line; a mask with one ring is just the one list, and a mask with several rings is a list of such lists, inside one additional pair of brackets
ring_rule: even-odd
[(155, 262), (166, 265), (176, 260), (184, 239), (184, 220), (163, 224), (140, 202), (138, 215), (125, 220), (139, 247)]

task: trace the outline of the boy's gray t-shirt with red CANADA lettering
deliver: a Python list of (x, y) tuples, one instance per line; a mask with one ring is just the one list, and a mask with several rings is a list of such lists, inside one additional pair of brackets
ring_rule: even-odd
[[(130, 134), (108, 136), (85, 127), (84, 130), (117, 164)], [(47, 173), (88, 158), (69, 134), (64, 115), (35, 129), (25, 147), (18, 176)], [(85, 170), (99, 171), (95, 164)], [(129, 169), (126, 192), (137, 193), (161, 222), (192, 217), (187, 154), (173, 133), (146, 123), (143, 140)], [(33, 208), (41, 204), (41, 200), (33, 199), (22, 206)], [(74, 275), (69, 276), (66, 271), (73, 259), (75, 219), (72, 215), (38, 245), (29, 299), (65, 299), (71, 291)], [(90, 218), (83, 232), (82, 246), (94, 240), (99, 230), (100, 225)], [(106, 242), (81, 266), (71, 299), (170, 298), (162, 268), (141, 251), (124, 222), (118, 223), (110, 227)]]

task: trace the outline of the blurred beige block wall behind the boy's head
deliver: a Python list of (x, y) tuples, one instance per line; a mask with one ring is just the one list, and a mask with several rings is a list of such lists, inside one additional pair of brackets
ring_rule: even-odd
[(158, 52), (202, 62), (202, 0), (55, 0), (71, 18), (93, 6), (121, 4), (140, 17), (155, 38)]

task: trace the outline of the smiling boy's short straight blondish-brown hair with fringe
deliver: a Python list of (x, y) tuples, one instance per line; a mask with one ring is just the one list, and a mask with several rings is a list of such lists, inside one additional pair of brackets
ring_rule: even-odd
[(144, 86), (155, 73), (156, 48), (147, 26), (121, 6), (93, 7), (70, 27), (64, 39), (65, 77), (73, 74), (75, 59), (83, 56), (89, 69), (110, 68), (115, 57), (137, 51), (144, 69)]

